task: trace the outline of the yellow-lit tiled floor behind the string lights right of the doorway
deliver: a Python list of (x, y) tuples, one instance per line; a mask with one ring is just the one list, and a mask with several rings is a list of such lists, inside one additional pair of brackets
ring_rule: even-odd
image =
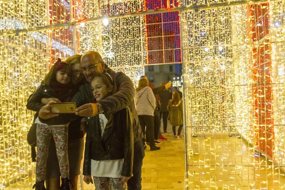
[(285, 189), (285, 167), (255, 155), (242, 138), (206, 134), (192, 143), (189, 189)]

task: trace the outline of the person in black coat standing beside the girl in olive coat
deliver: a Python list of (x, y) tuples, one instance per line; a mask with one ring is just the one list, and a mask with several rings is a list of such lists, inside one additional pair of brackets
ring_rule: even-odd
[[(165, 83), (161, 83), (160, 86), (164, 86)], [(168, 110), (167, 110), (167, 105), (168, 101), (171, 99), (171, 94), (164, 90), (161, 93), (158, 94), (160, 97), (160, 110), (159, 110), (159, 115), (160, 119), (162, 116), (162, 121), (163, 121), (163, 134), (167, 134), (167, 117), (168, 117)]]

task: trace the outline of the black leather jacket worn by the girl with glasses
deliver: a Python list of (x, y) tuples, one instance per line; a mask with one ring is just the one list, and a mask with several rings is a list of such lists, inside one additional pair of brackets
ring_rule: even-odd
[[(100, 136), (99, 115), (87, 117), (87, 133), (83, 163), (83, 175), (91, 175), (92, 160), (124, 159), (122, 176), (133, 173), (133, 128), (132, 116), (128, 108), (114, 113), (113, 125), (105, 128), (103, 140)], [(112, 167), (112, 166), (110, 166)]]

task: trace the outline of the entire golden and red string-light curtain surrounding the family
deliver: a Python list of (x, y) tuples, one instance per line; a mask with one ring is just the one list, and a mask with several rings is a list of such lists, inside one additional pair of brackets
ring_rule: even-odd
[[(135, 85), (183, 64), (185, 189), (285, 188), (285, 2), (0, 0), (0, 189), (30, 189), (27, 98), (54, 60), (99, 51)], [(93, 189), (83, 185), (80, 189)]]

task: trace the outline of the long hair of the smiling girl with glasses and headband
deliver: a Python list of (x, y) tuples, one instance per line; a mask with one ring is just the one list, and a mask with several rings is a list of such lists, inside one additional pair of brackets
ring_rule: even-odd
[[(97, 77), (100, 77), (102, 79), (103, 83), (107, 86), (107, 88), (111, 88), (111, 86), (113, 86), (113, 90), (108, 93), (108, 96), (113, 95), (114, 93), (117, 92), (117, 84), (114, 81), (113, 77), (109, 75), (109, 73), (96, 73), (90, 80), (90, 88), (91, 88), (91, 82)], [(106, 124), (106, 128), (108, 128), (113, 125), (114, 114), (107, 114), (105, 115), (105, 117), (108, 120)]]

